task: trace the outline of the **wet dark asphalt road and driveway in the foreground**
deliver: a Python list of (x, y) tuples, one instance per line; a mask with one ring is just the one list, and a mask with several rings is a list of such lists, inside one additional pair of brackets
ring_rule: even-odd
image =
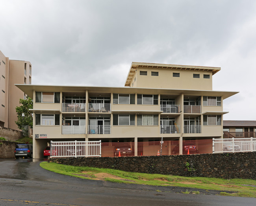
[(0, 159), (0, 205), (256, 205), (254, 198), (182, 194), (174, 193), (177, 188), (172, 187), (69, 177), (46, 171), (39, 166), (41, 161), (44, 159)]

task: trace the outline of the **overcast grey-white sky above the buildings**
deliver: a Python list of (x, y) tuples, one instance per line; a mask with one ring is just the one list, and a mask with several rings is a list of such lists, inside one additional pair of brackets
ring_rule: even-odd
[(0, 0), (0, 50), (32, 84), (124, 86), (131, 63), (221, 67), (224, 120), (256, 120), (255, 0)]

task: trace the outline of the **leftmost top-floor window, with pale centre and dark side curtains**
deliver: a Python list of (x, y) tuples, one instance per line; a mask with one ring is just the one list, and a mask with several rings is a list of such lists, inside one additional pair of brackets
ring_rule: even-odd
[(36, 103), (59, 103), (60, 92), (35, 92)]

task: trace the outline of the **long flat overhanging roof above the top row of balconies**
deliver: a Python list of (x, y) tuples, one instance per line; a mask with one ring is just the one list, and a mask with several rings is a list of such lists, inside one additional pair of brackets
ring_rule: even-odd
[(184, 90), (184, 89), (161, 89), (161, 88), (134, 88), (134, 87), (103, 87), (103, 86), (57, 86), (57, 85), (19, 85), (15, 84), (20, 90), (25, 92), (29, 97), (33, 98), (33, 91), (38, 92), (85, 92), (89, 90), (91, 93), (124, 93), (124, 94), (161, 94), (178, 96), (184, 94), (189, 96), (222, 96), (226, 99), (239, 92), (212, 91), (212, 90)]

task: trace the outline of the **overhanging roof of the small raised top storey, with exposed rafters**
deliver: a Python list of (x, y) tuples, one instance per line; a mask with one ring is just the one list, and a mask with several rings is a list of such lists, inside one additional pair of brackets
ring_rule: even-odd
[(137, 68), (150, 68), (150, 69), (175, 69), (175, 70), (192, 70), (192, 71), (211, 71), (212, 75), (221, 70), (220, 67), (210, 66), (189, 66), (189, 65), (177, 65), (177, 64), (156, 64), (156, 63), (141, 63), (132, 62), (124, 86), (130, 86), (131, 80), (135, 74)]

